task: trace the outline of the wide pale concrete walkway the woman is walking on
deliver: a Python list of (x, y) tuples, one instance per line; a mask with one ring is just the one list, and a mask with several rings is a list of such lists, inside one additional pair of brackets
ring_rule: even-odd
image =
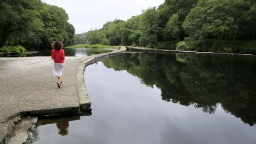
[(78, 110), (78, 93), (81, 96), (86, 92), (82, 77), (86, 62), (125, 51), (121, 47), (118, 51), (90, 57), (66, 57), (61, 89), (57, 87), (57, 78), (52, 76), (51, 57), (0, 58), (0, 143), (6, 134), (5, 122), (13, 116), (26, 111), (45, 114)]

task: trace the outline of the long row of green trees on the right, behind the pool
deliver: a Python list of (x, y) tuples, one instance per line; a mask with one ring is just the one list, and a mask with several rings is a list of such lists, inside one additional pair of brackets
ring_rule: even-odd
[(165, 0), (127, 21), (75, 36), (76, 43), (256, 54), (256, 1)]

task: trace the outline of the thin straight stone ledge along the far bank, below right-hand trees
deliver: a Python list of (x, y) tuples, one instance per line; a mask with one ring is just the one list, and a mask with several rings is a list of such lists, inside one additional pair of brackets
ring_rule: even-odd
[(141, 47), (126, 46), (127, 51), (147, 51), (147, 52), (173, 52), (173, 53), (195, 53), (195, 54), (219, 54), (219, 55), (250, 55), (253, 54), (242, 54), (242, 53), (219, 53), (219, 52), (197, 52), (197, 51), (176, 51), (176, 50), (158, 50), (158, 49), (145, 49)]

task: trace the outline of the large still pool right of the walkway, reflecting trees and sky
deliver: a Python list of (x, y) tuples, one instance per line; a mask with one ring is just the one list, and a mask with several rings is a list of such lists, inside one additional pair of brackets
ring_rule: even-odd
[(255, 66), (226, 55), (105, 59), (85, 69), (92, 115), (66, 135), (57, 122), (38, 126), (34, 143), (256, 143)]

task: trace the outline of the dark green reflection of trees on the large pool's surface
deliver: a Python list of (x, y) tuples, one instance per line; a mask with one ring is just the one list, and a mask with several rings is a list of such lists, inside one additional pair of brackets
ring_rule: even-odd
[(193, 105), (213, 114), (217, 105), (251, 126), (256, 124), (256, 58), (184, 53), (125, 53), (103, 60), (143, 84), (156, 85), (162, 100)]

